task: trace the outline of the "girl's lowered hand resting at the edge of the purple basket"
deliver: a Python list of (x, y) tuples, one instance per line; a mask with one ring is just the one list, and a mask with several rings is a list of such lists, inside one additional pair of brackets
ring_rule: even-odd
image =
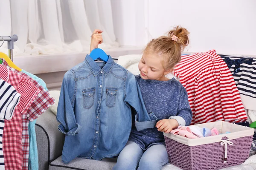
[(179, 126), (179, 124), (178, 124), (177, 120), (175, 120), (175, 119), (162, 119), (162, 120), (158, 121), (157, 125), (156, 125), (157, 130), (164, 132), (164, 133), (170, 133), (170, 131), (173, 128), (176, 128), (178, 126)]

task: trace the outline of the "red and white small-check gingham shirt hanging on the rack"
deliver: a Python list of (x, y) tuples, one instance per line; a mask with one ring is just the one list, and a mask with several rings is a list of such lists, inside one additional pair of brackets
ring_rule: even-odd
[(21, 115), (26, 114), (40, 93), (40, 89), (30, 79), (14, 73), (10, 69), (9, 66), (0, 65), (0, 78), (12, 85), (21, 96), (12, 119), (5, 120), (3, 155), (6, 170), (21, 170), (23, 163)]

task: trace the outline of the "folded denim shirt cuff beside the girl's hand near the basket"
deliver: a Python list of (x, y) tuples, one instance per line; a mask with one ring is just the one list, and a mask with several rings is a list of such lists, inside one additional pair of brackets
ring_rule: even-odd
[(154, 113), (148, 114), (151, 121), (145, 121), (145, 122), (138, 122), (137, 114), (135, 115), (135, 127), (138, 131), (154, 128), (157, 122), (157, 116), (154, 115)]

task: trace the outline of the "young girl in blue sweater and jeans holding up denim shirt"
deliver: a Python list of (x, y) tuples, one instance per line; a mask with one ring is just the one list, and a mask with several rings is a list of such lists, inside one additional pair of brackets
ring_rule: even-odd
[[(159, 121), (152, 129), (137, 131), (133, 119), (130, 138), (113, 170), (160, 170), (168, 162), (163, 132), (190, 125), (192, 111), (185, 88), (175, 78), (165, 77), (180, 62), (181, 51), (189, 43), (188, 34), (185, 28), (177, 26), (168, 36), (146, 45), (136, 79), (148, 113), (153, 112)], [(102, 43), (99, 34), (92, 38), (92, 44), (97, 47), (97, 43)]]

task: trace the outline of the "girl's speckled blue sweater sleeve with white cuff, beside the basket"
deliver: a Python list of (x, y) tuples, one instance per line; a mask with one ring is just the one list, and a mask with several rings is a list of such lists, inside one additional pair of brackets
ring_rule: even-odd
[[(185, 125), (183, 124), (183, 118)], [(180, 125), (189, 126), (192, 121), (192, 111), (189, 105), (188, 94), (185, 88), (182, 86), (180, 89), (180, 99), (178, 104), (177, 116), (170, 117), (169, 119), (175, 119)]]

